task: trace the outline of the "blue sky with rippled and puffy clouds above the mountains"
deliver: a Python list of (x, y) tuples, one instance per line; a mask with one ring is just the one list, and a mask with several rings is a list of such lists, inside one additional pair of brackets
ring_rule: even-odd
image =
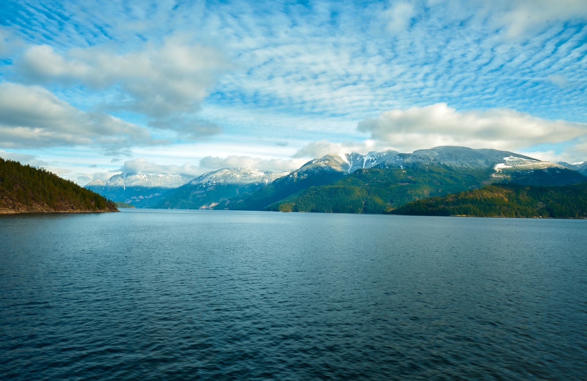
[(585, 0), (0, 2), (0, 157), (80, 185), (454, 145), (587, 160)]

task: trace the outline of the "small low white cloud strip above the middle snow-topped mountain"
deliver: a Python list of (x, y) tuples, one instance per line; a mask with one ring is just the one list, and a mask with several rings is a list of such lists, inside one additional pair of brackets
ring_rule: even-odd
[(294, 170), (305, 164), (304, 159), (260, 159), (251, 156), (231, 155), (228, 157), (206, 156), (200, 160), (200, 166), (207, 170), (217, 170), (220, 168), (240, 167), (240, 168), (258, 168), (274, 172)]

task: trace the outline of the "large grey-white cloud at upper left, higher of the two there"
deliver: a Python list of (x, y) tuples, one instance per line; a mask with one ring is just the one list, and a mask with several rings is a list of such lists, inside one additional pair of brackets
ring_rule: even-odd
[(190, 120), (231, 65), (214, 48), (191, 43), (185, 36), (166, 38), (161, 46), (147, 43), (143, 50), (119, 53), (109, 46), (56, 52), (36, 45), (15, 60), (16, 72), (27, 82), (82, 85), (116, 94), (104, 107), (146, 115), (152, 126), (197, 136), (219, 132)]

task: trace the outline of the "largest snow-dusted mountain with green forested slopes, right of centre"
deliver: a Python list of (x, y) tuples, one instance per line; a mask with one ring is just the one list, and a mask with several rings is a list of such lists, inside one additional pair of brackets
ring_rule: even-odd
[(441, 146), (414, 153), (329, 154), (250, 197), (215, 208), (384, 213), (410, 201), (490, 183), (564, 185), (587, 181), (560, 164), (510, 151)]

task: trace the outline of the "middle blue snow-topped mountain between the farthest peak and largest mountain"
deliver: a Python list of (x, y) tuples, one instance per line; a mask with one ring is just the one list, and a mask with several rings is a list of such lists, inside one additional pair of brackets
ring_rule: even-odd
[(165, 198), (152, 204), (163, 209), (211, 208), (236, 196), (250, 196), (288, 172), (273, 173), (251, 168), (222, 168), (204, 173), (176, 190), (168, 191)]

